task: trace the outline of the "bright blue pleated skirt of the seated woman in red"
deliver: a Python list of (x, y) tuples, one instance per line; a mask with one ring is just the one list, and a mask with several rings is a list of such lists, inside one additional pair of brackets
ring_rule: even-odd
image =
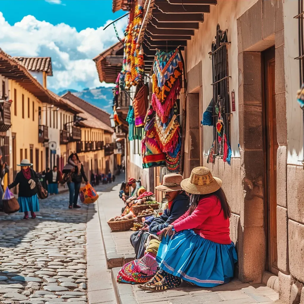
[(171, 275), (198, 286), (214, 287), (233, 278), (237, 252), (233, 242), (218, 244), (193, 230), (182, 230), (172, 240), (162, 239), (156, 260)]

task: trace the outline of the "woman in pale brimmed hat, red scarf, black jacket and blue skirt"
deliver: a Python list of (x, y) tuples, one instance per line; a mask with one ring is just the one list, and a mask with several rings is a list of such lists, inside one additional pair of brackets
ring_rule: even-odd
[(18, 165), (21, 170), (17, 173), (15, 180), (8, 187), (9, 189), (19, 184), (18, 203), (19, 212), (24, 212), (23, 219), (29, 218), (29, 211), (32, 219), (36, 218), (36, 211), (39, 211), (39, 201), (37, 197), (37, 188), (35, 179), (38, 179), (37, 173), (30, 168), (33, 164), (28, 159), (23, 159)]

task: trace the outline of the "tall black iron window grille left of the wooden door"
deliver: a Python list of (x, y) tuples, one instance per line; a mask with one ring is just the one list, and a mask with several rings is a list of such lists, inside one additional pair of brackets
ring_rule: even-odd
[(216, 26), (216, 41), (212, 42), (209, 55), (212, 59), (212, 87), (213, 87), (213, 156), (223, 157), (224, 139), (219, 138), (217, 123), (223, 121), (223, 132), (230, 142), (230, 98), (229, 98), (229, 68), (227, 29), (222, 31), (219, 24)]

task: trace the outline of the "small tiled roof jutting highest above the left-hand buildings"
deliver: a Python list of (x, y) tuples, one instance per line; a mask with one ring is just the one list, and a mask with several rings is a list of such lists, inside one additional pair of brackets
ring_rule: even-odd
[(46, 72), (47, 76), (53, 76), (51, 57), (13, 57), (28, 71)]

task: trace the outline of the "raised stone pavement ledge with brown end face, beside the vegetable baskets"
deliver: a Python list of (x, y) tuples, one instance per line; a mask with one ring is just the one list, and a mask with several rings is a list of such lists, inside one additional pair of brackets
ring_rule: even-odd
[[(99, 200), (99, 199), (98, 199)], [(116, 244), (111, 236), (111, 229), (105, 218), (105, 213), (103, 212), (102, 204), (98, 204), (97, 201), (97, 210), (100, 222), (100, 229), (102, 234), (103, 246), (105, 248), (105, 258), (107, 261), (107, 268), (112, 269), (115, 267), (121, 267), (124, 264), (133, 261), (135, 259), (135, 254), (117, 254), (116, 253)], [(115, 232), (119, 233), (119, 232)]]

